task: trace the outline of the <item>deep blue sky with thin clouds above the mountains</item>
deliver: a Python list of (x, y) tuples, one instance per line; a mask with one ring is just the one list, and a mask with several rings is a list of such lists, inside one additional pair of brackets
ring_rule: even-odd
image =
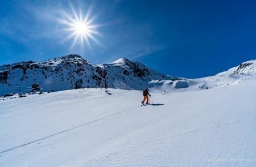
[[(88, 10), (89, 45), (69, 38), (64, 15)], [(164, 74), (199, 78), (256, 58), (256, 1), (1, 1), (0, 65), (80, 54), (119, 57)]]

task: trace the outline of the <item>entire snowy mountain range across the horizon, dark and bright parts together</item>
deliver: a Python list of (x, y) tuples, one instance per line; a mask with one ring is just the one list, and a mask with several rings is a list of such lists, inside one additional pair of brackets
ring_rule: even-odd
[(93, 65), (80, 55), (67, 55), (43, 62), (0, 66), (0, 96), (92, 87), (150, 88), (158, 92), (195, 91), (239, 84), (254, 76), (256, 60), (241, 63), (214, 76), (187, 79), (161, 74), (126, 58), (119, 58), (110, 64)]

